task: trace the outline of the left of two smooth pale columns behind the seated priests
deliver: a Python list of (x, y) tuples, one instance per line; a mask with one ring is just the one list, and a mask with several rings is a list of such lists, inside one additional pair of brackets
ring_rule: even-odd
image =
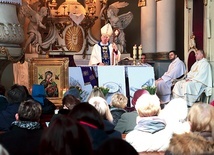
[(141, 7), (141, 44), (143, 53), (156, 52), (156, 2), (147, 0)]

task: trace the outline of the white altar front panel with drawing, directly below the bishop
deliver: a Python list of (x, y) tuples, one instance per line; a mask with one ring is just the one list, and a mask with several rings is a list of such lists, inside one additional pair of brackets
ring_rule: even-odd
[(124, 94), (126, 96), (124, 66), (98, 66), (97, 71), (99, 87), (109, 88), (109, 92), (106, 95), (108, 104), (110, 104), (111, 97), (115, 93)]

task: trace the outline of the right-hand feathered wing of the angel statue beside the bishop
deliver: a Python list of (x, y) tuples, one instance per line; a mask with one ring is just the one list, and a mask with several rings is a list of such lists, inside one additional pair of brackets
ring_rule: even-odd
[(127, 13), (124, 13), (120, 16), (118, 16), (120, 22), (121, 22), (121, 29), (125, 29), (132, 21), (133, 19), (133, 13), (132, 12), (127, 12)]

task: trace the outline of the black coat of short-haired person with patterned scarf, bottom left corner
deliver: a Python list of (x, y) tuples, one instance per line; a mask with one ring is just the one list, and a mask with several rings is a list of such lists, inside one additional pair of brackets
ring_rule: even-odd
[(24, 129), (12, 126), (11, 130), (0, 135), (0, 144), (10, 155), (38, 155), (42, 129)]

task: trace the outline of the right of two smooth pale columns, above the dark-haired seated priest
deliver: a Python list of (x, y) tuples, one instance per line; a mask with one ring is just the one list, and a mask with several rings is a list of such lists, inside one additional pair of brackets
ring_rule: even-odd
[(175, 50), (175, 0), (157, 2), (157, 52)]

